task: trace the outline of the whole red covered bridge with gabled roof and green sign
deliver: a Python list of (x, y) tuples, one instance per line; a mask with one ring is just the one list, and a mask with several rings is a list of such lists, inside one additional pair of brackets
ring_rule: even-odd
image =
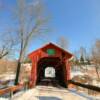
[[(34, 87), (41, 84), (43, 80), (55, 80), (57, 84), (67, 87), (68, 80), (70, 79), (70, 63), (69, 59), (73, 55), (62, 48), (49, 43), (42, 48), (30, 53), (29, 58), (32, 61), (31, 81), (30, 86)], [(54, 77), (47, 77), (45, 75), (46, 68), (54, 69)], [(48, 72), (50, 74), (50, 70)]]

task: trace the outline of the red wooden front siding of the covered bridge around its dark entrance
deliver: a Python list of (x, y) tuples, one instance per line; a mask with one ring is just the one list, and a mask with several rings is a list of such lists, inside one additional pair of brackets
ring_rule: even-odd
[[(48, 55), (46, 50), (47, 49), (55, 49), (56, 53), (55, 55)], [(59, 57), (61, 59), (61, 61), (63, 61), (65, 63), (65, 71), (64, 72), (64, 78), (65, 80), (69, 80), (70, 79), (70, 64), (69, 64), (69, 59), (72, 58), (72, 54), (63, 50), (62, 48), (49, 43), (45, 46), (43, 46), (42, 48), (32, 52), (29, 54), (29, 58), (32, 60), (32, 70), (31, 70), (31, 76), (30, 76), (30, 86), (35, 86), (36, 85), (36, 80), (37, 80), (37, 63), (41, 58), (44, 57)]]

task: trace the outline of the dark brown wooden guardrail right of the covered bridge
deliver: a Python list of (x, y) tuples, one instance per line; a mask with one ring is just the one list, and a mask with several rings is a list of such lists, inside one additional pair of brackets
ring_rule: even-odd
[(89, 84), (82, 84), (82, 83), (79, 83), (79, 82), (75, 82), (73, 80), (69, 80), (68, 83), (73, 84), (73, 85), (77, 85), (77, 86), (80, 86), (80, 87), (83, 87), (83, 88), (87, 88), (87, 89), (90, 89), (90, 90), (94, 90), (94, 91), (97, 91), (97, 92), (100, 92), (100, 87), (97, 87), (97, 86), (93, 86), (93, 85), (89, 85)]

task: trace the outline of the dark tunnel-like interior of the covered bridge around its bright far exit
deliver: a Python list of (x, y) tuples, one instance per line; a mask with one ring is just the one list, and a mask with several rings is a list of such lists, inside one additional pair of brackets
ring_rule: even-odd
[[(45, 69), (52, 66), (55, 69), (55, 77), (45, 77)], [(45, 57), (38, 61), (36, 85), (51, 85), (66, 87), (66, 70), (64, 63), (58, 57)]]

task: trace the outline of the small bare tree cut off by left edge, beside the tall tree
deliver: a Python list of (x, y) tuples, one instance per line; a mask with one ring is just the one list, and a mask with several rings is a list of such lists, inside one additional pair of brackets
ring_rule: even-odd
[(13, 52), (15, 39), (11, 33), (3, 33), (0, 35), (0, 59), (7, 57)]

